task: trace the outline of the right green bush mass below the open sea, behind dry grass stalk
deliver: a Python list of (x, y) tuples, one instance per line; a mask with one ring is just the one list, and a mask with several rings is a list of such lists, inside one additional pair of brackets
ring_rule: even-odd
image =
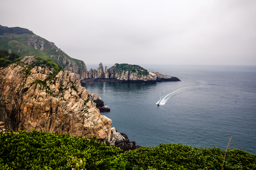
[[(168, 143), (156, 147), (126, 151), (126, 169), (221, 169), (225, 150), (220, 148), (197, 148), (183, 144)], [(224, 170), (252, 169), (255, 155), (240, 149), (228, 149)]]

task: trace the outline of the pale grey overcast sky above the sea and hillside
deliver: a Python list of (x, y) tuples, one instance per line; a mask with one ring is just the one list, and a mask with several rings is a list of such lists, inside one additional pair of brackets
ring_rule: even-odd
[(88, 64), (256, 65), (255, 0), (1, 0), (21, 27)]

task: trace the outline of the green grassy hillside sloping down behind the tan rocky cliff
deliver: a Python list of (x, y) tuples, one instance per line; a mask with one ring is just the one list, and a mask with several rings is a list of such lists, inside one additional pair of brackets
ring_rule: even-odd
[[(36, 42), (28, 43), (28, 41), (33, 40)], [(44, 44), (42, 42), (44, 42)], [(0, 49), (10, 49), (12, 52), (20, 55), (20, 57), (40, 56), (42, 58), (53, 61), (54, 63), (60, 65), (62, 68), (65, 68), (65, 65), (68, 64), (63, 63), (63, 58), (66, 57), (84, 69), (83, 61), (69, 57), (66, 53), (56, 47), (54, 43), (35, 35), (32, 31), (29, 31), (26, 28), (0, 27)]]

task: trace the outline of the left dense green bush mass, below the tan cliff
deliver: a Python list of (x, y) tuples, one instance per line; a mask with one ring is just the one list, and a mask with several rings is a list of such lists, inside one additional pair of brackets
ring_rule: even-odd
[(96, 139), (36, 130), (0, 133), (0, 169), (71, 169), (77, 159), (82, 159), (81, 167), (86, 169), (110, 169), (120, 149)]

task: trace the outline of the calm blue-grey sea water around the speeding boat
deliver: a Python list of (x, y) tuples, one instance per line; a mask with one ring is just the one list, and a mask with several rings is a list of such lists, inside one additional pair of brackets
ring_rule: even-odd
[[(182, 143), (222, 149), (233, 136), (230, 148), (255, 154), (256, 66), (141, 66), (182, 82), (84, 85), (110, 107), (102, 114), (118, 132), (141, 146)], [(157, 106), (165, 96), (166, 103)]]

